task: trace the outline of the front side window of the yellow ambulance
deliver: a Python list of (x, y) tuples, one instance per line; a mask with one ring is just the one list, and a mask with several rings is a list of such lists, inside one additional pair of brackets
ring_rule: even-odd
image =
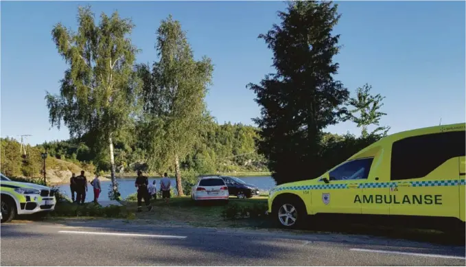
[(331, 181), (366, 179), (374, 158), (356, 159), (340, 165), (329, 173)]

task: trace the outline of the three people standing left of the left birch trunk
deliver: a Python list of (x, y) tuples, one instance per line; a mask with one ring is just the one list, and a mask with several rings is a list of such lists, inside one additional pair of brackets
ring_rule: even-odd
[[(95, 178), (91, 181), (91, 185), (94, 189), (94, 202), (97, 203), (100, 192), (102, 191), (99, 176), (95, 175)], [(84, 204), (87, 192), (87, 178), (84, 175), (84, 171), (81, 171), (81, 175), (79, 176), (75, 176), (74, 173), (71, 175), (71, 178), (69, 178), (69, 189), (71, 190), (71, 200), (73, 200), (74, 203)]]

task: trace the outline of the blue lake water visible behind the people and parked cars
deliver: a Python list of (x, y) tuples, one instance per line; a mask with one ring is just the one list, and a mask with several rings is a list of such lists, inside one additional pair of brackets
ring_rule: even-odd
[[(130, 194), (136, 193), (137, 189), (135, 187), (135, 179), (136, 178), (117, 178), (119, 192), (122, 198), (126, 198)], [(251, 177), (240, 177), (240, 179), (246, 183), (251, 183), (259, 187), (259, 191), (267, 192), (268, 190), (275, 187), (275, 181), (270, 176), (251, 176)], [(149, 178), (149, 183), (152, 181), (156, 181), (157, 191), (160, 190), (160, 180), (161, 178)], [(108, 200), (108, 190), (110, 189), (110, 185), (112, 182), (106, 181), (101, 182), (102, 192), (100, 193), (99, 200)], [(71, 190), (69, 189), (69, 185), (58, 185), (60, 188), (60, 192), (69, 196), (71, 198)], [(94, 198), (94, 193), (92, 190), (92, 186), (88, 185), (89, 191), (86, 194), (86, 201), (91, 201)], [(172, 187), (176, 189), (176, 181), (172, 178)]]

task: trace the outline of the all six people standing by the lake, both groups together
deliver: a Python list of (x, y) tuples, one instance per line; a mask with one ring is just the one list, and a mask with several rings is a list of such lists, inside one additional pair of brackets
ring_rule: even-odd
[[(95, 175), (91, 185), (94, 189), (94, 202), (97, 203), (102, 187), (100, 186), (99, 176)], [(163, 178), (160, 181), (160, 189), (162, 192), (162, 198), (165, 203), (168, 204), (170, 199), (170, 189), (172, 181), (168, 178), (167, 173), (163, 174)], [(75, 176), (73, 173), (69, 179), (69, 187), (71, 189), (71, 200), (78, 204), (84, 204), (87, 192), (87, 178), (84, 176), (84, 171), (81, 171), (80, 176)], [(142, 200), (144, 200), (145, 206), (148, 211), (152, 211), (152, 205), (150, 205), (150, 199), (157, 198), (156, 182), (153, 181), (152, 185), (149, 183), (147, 176), (143, 176), (141, 171), (137, 172), (137, 178), (135, 181), (135, 187), (137, 187), (137, 211), (142, 211)], [(75, 198), (76, 194), (76, 198)]]

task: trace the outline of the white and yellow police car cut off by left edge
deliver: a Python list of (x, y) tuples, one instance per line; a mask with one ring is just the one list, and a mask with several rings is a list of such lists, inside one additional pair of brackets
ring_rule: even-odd
[(56, 199), (54, 191), (43, 185), (11, 181), (0, 174), (1, 222), (10, 222), (16, 214), (32, 214), (53, 211)]

